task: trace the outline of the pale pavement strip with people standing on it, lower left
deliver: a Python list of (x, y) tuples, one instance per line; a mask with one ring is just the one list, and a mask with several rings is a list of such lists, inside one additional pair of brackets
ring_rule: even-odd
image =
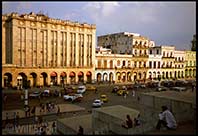
[[(64, 113), (64, 112), (76, 112), (76, 111), (83, 111), (85, 110), (85, 108), (74, 105), (74, 104), (57, 104), (57, 106), (60, 107), (60, 113)], [(40, 112), (40, 106), (36, 107), (36, 111), (35, 111), (35, 115), (36, 116), (40, 116), (40, 115), (51, 115), (51, 114), (57, 114), (57, 106), (55, 106), (55, 109), (52, 110), (51, 112), (48, 112), (46, 109), (45, 111), (41, 111)], [(32, 108), (32, 107), (31, 107)], [(2, 120), (6, 120), (7, 119), (14, 119), (14, 115), (15, 113), (19, 115), (19, 118), (25, 118), (25, 111), (23, 109), (16, 109), (16, 110), (6, 110), (6, 111), (2, 111)], [(7, 114), (7, 115), (6, 115)], [(31, 110), (30, 110), (30, 116), (27, 117), (33, 117), (34, 115), (31, 114)]]

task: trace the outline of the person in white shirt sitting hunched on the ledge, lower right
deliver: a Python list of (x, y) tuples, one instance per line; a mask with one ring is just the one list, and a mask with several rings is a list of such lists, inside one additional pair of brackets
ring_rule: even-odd
[(162, 106), (162, 112), (159, 114), (156, 129), (160, 130), (161, 125), (164, 125), (169, 130), (175, 130), (177, 128), (175, 117), (168, 110), (167, 106)]

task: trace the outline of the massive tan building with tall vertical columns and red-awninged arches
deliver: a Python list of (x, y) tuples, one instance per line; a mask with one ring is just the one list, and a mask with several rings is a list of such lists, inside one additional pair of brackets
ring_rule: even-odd
[(43, 14), (2, 15), (2, 86), (94, 79), (96, 25)]

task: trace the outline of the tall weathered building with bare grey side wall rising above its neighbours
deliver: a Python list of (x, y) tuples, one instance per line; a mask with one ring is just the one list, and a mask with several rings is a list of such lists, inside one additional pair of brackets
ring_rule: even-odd
[(111, 49), (113, 54), (131, 55), (133, 81), (146, 81), (148, 49), (155, 46), (154, 41), (140, 34), (129, 32), (103, 35), (99, 36), (97, 40), (99, 47)]

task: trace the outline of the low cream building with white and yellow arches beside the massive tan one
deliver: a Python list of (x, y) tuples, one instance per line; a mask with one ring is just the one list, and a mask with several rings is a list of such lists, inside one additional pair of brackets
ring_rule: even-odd
[(132, 55), (112, 54), (110, 49), (99, 48), (96, 53), (97, 82), (132, 82)]

